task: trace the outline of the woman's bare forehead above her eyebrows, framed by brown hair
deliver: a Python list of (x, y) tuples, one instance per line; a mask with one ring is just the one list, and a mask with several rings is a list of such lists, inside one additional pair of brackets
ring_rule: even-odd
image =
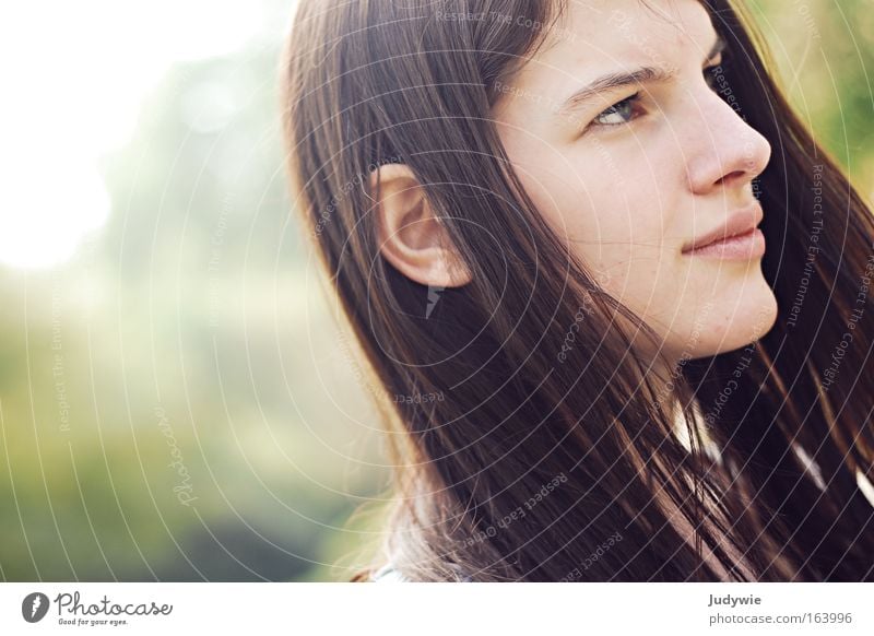
[(712, 39), (698, 0), (567, 0), (543, 46), (504, 93), (558, 98), (605, 72), (700, 66)]

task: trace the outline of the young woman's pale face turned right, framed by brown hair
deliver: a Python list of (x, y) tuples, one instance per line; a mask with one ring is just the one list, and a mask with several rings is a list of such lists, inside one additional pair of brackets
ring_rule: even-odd
[(547, 222), (674, 358), (741, 348), (777, 315), (753, 231), (770, 146), (718, 94), (720, 46), (696, 0), (571, 0), (493, 113)]

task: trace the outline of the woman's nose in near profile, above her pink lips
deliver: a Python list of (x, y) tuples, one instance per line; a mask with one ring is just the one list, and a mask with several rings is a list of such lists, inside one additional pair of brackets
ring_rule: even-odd
[(740, 190), (753, 181), (771, 156), (768, 140), (719, 95), (705, 90), (692, 105), (695, 127), (687, 138), (689, 185), (696, 195)]

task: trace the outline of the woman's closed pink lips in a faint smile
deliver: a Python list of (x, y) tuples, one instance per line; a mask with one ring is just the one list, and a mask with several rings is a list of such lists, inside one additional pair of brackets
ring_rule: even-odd
[(758, 201), (729, 214), (722, 225), (683, 246), (684, 256), (754, 259), (765, 254), (765, 235), (757, 227), (763, 212)]

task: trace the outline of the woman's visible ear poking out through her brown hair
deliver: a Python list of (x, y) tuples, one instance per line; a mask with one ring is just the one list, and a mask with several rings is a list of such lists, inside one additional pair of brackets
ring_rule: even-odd
[(382, 256), (406, 278), (434, 287), (459, 287), (471, 274), (451, 245), (425, 190), (403, 164), (370, 173), (374, 214)]

